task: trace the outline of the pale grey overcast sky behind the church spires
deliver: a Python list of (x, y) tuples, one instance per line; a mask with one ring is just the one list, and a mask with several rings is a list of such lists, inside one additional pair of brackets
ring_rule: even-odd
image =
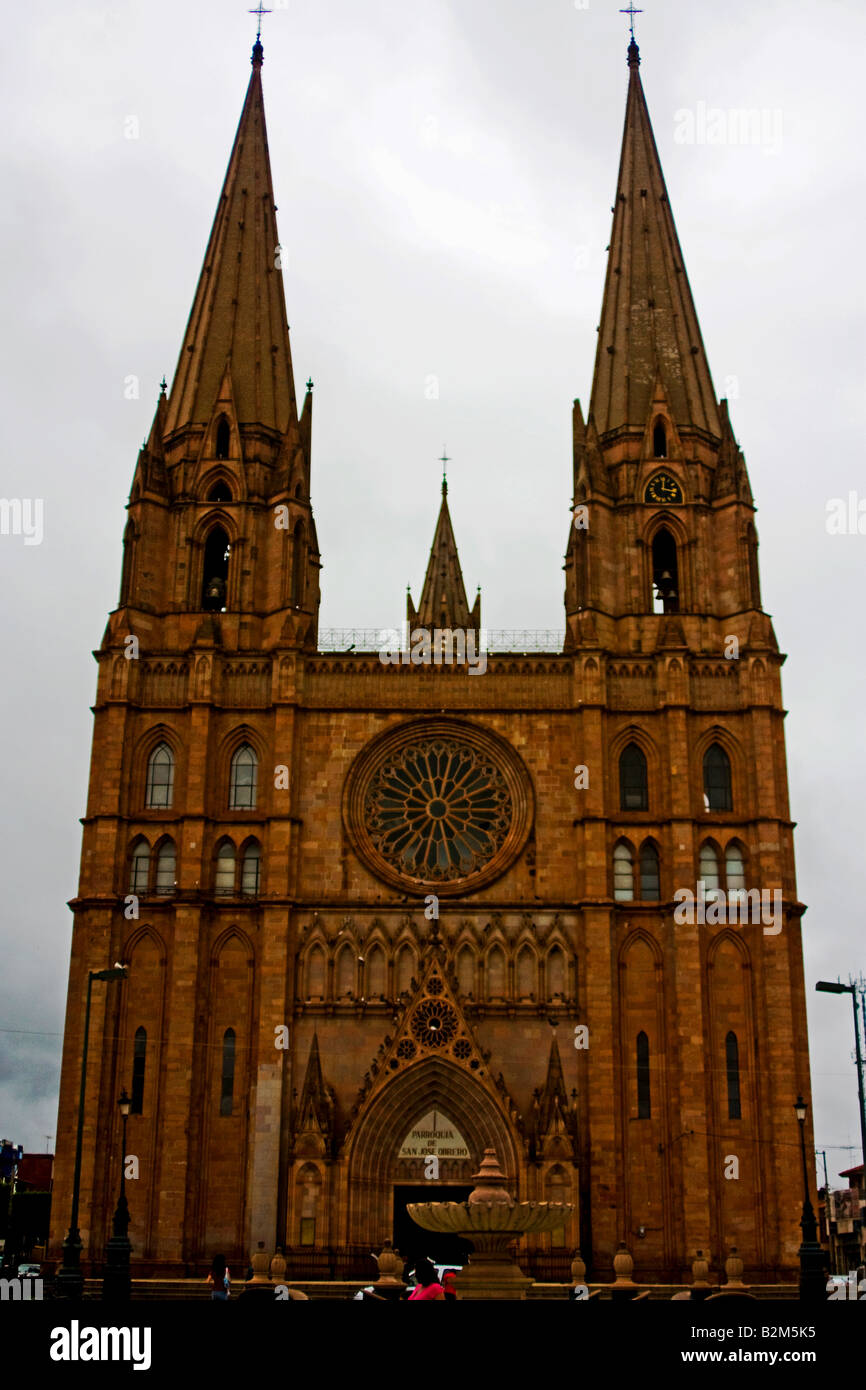
[[(325, 627), (396, 626), (407, 582), (418, 598), (443, 445), (484, 624), (563, 626), (571, 400), (589, 396), (627, 88), (620, 3), (271, 0), (263, 81), (295, 374), (316, 382)], [(828, 499), (866, 498), (865, 19), (862, 0), (648, 0), (637, 19), (788, 653), (831, 1180), (858, 1161), (852, 1020), (813, 984), (866, 972), (866, 535), (826, 528)], [(253, 38), (246, 4), (227, 0), (50, 0), (4, 17), (0, 491), (44, 502), (42, 545), (0, 537), (0, 1130), (28, 1148), (54, 1144), (90, 652), (117, 603), (136, 452), (174, 373)], [(766, 113), (765, 139), (708, 143), (713, 107)], [(676, 138), (683, 111), (692, 143)], [(125, 399), (131, 375), (139, 399)]]

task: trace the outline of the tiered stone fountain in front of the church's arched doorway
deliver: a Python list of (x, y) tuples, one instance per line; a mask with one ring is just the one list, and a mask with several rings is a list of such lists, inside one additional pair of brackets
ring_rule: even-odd
[(406, 1211), (424, 1230), (461, 1236), (473, 1245), (467, 1268), (457, 1275), (460, 1298), (525, 1298), (532, 1280), (514, 1262), (509, 1245), (530, 1232), (562, 1226), (574, 1208), (514, 1201), (493, 1148), (485, 1148), (473, 1182), (464, 1202), (410, 1202)]

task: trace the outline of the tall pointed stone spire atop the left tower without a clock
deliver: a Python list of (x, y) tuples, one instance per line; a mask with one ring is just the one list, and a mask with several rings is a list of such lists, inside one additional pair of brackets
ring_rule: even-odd
[(165, 432), (207, 424), (227, 366), (239, 424), (285, 432), (297, 420), (271, 183), (261, 43), (181, 346)]

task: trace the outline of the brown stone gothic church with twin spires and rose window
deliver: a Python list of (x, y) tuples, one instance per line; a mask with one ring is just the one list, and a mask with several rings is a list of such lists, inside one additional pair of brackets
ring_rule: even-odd
[[(635, 1277), (733, 1245), (748, 1279), (790, 1276), (809, 1063), (783, 657), (637, 46), (585, 418), (574, 403), (566, 638), (484, 673), (320, 651), (313, 392), (261, 65), (256, 43), (97, 652), (54, 1255), (86, 976), (124, 960), (90, 1019), (92, 1268), (125, 1087), (142, 1273), (261, 1240), (296, 1277), (367, 1277), (407, 1193), (463, 1195), (492, 1147), (520, 1200), (573, 1207), (521, 1250), (538, 1277), (578, 1248), (607, 1277), (623, 1240)], [(409, 619), (480, 630), (445, 489)], [(702, 910), (753, 888), (780, 894), (770, 930)]]

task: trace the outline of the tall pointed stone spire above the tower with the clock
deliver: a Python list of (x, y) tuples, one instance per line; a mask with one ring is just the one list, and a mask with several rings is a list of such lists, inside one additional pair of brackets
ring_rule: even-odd
[(680, 434), (699, 430), (720, 436), (716, 393), (639, 64), (632, 39), (589, 418), (601, 436), (623, 427), (642, 431), (660, 384)]

